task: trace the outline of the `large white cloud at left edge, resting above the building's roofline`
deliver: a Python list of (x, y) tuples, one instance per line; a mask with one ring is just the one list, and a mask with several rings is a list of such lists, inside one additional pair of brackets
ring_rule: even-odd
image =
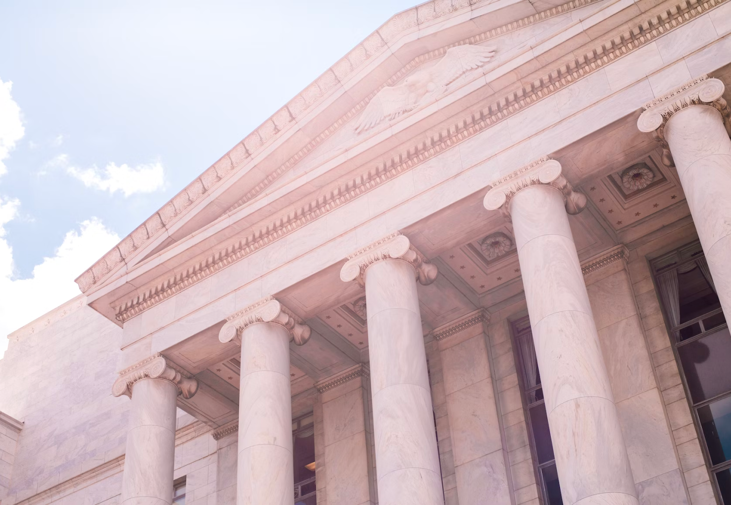
[(119, 242), (117, 234), (92, 217), (69, 231), (53, 256), (34, 267), (32, 277), (14, 279), (4, 225), (18, 215), (19, 205), (18, 200), (0, 200), (0, 358), (7, 334), (77, 296), (74, 279)]

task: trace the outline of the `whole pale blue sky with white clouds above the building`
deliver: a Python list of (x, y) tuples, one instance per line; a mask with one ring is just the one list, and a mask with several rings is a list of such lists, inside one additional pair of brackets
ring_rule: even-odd
[(0, 3), (4, 335), (414, 0)]

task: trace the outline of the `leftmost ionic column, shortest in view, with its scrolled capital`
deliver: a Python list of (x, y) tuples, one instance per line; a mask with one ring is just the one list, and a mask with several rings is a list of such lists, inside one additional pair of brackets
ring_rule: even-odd
[(197, 390), (196, 379), (159, 354), (120, 372), (112, 393), (132, 398), (121, 505), (173, 503), (176, 401)]

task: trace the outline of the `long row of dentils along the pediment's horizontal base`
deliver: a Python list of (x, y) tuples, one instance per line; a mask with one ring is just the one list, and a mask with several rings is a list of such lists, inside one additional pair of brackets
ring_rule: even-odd
[(709, 0), (702, 4), (695, 4), (695, 7), (689, 6), (686, 2), (680, 3), (667, 11), (667, 18), (660, 19), (654, 16), (643, 20), (643, 23), (637, 24), (632, 30), (616, 37), (605, 45), (597, 46), (595, 50), (589, 51), (580, 59), (577, 58), (575, 61), (551, 69), (540, 79), (524, 86), (522, 90), (501, 97), (477, 113), (461, 117), (452, 125), (436, 132), (436, 134), (431, 134), (426, 138), (414, 139), (414, 142), (408, 148), (404, 148), (401, 153), (395, 155), (389, 161), (371, 166), (370, 169), (352, 177), (346, 184), (319, 196), (316, 201), (304, 204), (295, 209), (294, 212), (279, 215), (276, 219), (262, 224), (256, 231), (243, 239), (237, 239), (235, 242), (227, 244), (226, 247), (221, 247), (220, 250), (202, 258), (197, 263), (188, 266), (185, 271), (177, 272), (172, 277), (157, 282), (151, 288), (145, 288), (143, 293), (115, 307), (116, 319), (124, 323), (126, 320), (175, 295), (175, 293), (185, 290), (230, 264), (246, 258), (260, 248), (266, 247), (268, 244), (292, 233), (292, 231), (302, 228), (318, 217), (327, 215), (352, 199), (368, 193), (368, 191), (377, 188), (384, 182), (420, 165), (420, 163), (428, 161), (444, 150), (479, 134), (486, 128), (491, 128), (496, 123), (512, 117), (512, 115), (537, 101), (602, 69), (607, 63), (611, 63), (621, 58), (621, 56), (632, 53), (653, 42), (657, 37), (694, 20), (725, 1), (727, 0)]

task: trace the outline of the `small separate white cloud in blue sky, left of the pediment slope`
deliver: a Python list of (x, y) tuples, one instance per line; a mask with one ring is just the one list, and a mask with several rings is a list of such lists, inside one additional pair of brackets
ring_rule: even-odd
[(109, 191), (110, 194), (121, 191), (124, 196), (152, 193), (165, 185), (164, 169), (159, 162), (137, 166), (109, 163), (103, 170), (96, 166), (91, 169), (69, 166), (67, 172), (83, 182), (87, 188)]

